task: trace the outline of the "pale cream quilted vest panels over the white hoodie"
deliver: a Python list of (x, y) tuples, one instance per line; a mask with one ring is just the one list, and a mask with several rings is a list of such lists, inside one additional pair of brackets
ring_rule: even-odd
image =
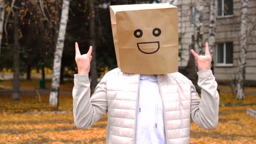
[[(179, 72), (157, 75), (168, 144), (189, 144), (190, 81)], [(118, 72), (107, 79), (108, 144), (134, 144), (139, 75)]]

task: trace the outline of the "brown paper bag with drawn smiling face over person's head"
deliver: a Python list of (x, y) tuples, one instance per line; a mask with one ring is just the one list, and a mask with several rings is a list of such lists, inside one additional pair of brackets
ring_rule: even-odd
[(110, 6), (117, 66), (158, 75), (178, 71), (178, 8), (169, 4)]

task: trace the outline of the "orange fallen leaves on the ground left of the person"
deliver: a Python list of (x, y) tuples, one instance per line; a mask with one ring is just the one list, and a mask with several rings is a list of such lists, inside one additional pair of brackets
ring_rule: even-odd
[(106, 141), (107, 115), (86, 130), (77, 129), (73, 114), (1, 114), (0, 143), (97, 143)]

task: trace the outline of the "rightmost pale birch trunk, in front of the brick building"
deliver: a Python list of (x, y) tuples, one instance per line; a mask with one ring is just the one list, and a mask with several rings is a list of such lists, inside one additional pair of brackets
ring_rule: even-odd
[(237, 93), (238, 100), (244, 99), (244, 83), (245, 83), (245, 58), (247, 51), (247, 20), (248, 20), (248, 0), (242, 0), (241, 9), (241, 25), (240, 25), (240, 50), (238, 59), (238, 78), (237, 78)]

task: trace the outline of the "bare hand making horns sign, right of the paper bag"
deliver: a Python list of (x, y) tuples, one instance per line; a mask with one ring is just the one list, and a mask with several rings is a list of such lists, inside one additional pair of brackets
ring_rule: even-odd
[(211, 54), (208, 43), (205, 43), (205, 56), (199, 56), (194, 50), (191, 50), (191, 53), (195, 56), (195, 63), (199, 71), (211, 69)]

